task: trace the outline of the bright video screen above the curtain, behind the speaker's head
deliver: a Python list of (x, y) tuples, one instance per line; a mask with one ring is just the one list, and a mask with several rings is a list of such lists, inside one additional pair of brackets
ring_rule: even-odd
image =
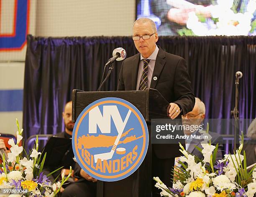
[(159, 35), (256, 35), (256, 0), (137, 0)]

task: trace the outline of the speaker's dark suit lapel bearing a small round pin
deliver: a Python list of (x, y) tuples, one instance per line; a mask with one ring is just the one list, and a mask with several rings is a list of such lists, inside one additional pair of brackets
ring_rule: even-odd
[[(162, 50), (161, 47), (159, 47), (159, 51), (156, 56), (156, 63), (155, 63), (155, 67), (154, 67), (154, 71), (153, 71), (153, 75), (152, 75), (152, 79), (151, 79), (150, 88), (155, 89), (155, 87), (156, 87), (156, 84), (158, 82), (160, 74), (164, 68), (165, 63), (166, 63), (164, 58), (165, 58), (164, 50)], [(157, 77), (157, 80), (154, 80), (154, 77)]]

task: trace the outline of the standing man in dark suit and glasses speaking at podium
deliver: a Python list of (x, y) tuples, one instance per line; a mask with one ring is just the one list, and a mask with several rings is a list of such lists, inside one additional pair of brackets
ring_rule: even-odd
[[(191, 111), (195, 97), (186, 62), (182, 57), (167, 53), (156, 45), (158, 35), (154, 21), (148, 18), (136, 20), (133, 40), (140, 53), (123, 61), (118, 90), (145, 90), (149, 87), (158, 90), (170, 103), (168, 112), (171, 119), (181, 118), (182, 114)], [(161, 180), (168, 186), (171, 185), (170, 174), (174, 165), (173, 150), (177, 150), (178, 146), (153, 146), (153, 176), (164, 176)]]

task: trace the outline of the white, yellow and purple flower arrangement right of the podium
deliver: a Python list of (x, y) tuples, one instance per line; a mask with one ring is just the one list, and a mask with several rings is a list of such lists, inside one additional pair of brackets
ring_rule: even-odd
[[(154, 177), (155, 187), (162, 190), (166, 197), (253, 197), (256, 193), (255, 166), (248, 172), (246, 153), (243, 148), (243, 133), (240, 146), (234, 154), (225, 155), (216, 162), (218, 144), (201, 143), (202, 149), (196, 147), (203, 155), (200, 160), (188, 153), (180, 144), (180, 167), (174, 166), (172, 188), (166, 187), (159, 177)], [(214, 164), (216, 165), (214, 166)]]

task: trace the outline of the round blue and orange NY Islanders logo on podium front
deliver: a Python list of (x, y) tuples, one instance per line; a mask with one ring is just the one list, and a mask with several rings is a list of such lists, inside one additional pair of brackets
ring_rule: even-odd
[(72, 145), (82, 169), (102, 181), (135, 172), (146, 156), (148, 129), (130, 102), (108, 97), (88, 105), (77, 118)]

